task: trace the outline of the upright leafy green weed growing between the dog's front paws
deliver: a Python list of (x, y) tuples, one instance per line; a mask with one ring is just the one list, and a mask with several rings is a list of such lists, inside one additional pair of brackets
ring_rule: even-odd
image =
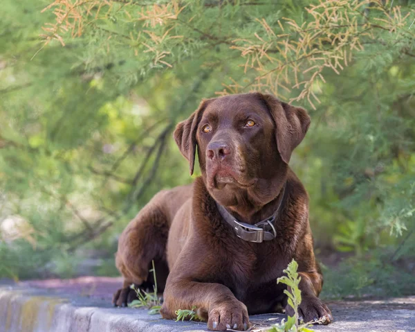
[(304, 323), (303, 321), (299, 322), (298, 316), (298, 307), (301, 304), (301, 290), (299, 290), (298, 285), (299, 281), (301, 281), (301, 277), (298, 276), (297, 273), (298, 264), (293, 259), (291, 263), (288, 264), (288, 268), (284, 270), (284, 273), (287, 276), (280, 277), (277, 279), (277, 283), (285, 283), (288, 286), (287, 290), (284, 290), (284, 294), (288, 296), (288, 304), (294, 310), (294, 316), (288, 316), (288, 319), (282, 320), (280, 324), (275, 324), (271, 329), (267, 332), (313, 332), (312, 329), (309, 327), (313, 324), (322, 324), (325, 317), (320, 320)]

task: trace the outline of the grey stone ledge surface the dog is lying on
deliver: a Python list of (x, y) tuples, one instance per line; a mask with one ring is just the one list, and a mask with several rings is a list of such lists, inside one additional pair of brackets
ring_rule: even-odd
[[(0, 332), (206, 331), (205, 323), (174, 322), (131, 308), (113, 308), (111, 296), (121, 281), (82, 277), (62, 281), (0, 281)], [(335, 322), (316, 331), (415, 331), (415, 296), (364, 302), (329, 302)], [(256, 315), (254, 331), (284, 315)]]

